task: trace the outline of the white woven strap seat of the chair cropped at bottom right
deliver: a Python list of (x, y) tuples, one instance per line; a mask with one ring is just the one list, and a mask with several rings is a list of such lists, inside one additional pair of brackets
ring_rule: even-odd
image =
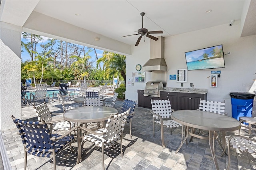
[[(228, 145), (228, 139), (230, 136), (225, 136), (226, 143)], [(248, 151), (249, 153), (255, 153), (256, 154), (256, 142), (252, 140), (248, 140), (243, 137), (233, 137), (230, 139), (230, 146), (236, 149), (241, 149), (244, 151)]]

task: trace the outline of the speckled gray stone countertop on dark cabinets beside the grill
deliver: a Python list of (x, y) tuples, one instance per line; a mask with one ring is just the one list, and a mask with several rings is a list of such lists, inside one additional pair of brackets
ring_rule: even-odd
[[(144, 89), (138, 89), (138, 90), (144, 90)], [(166, 88), (166, 89), (160, 89), (159, 91), (165, 91), (165, 92), (178, 92), (178, 93), (194, 93), (194, 94), (206, 94), (208, 93), (208, 89), (192, 89), (192, 88)]]

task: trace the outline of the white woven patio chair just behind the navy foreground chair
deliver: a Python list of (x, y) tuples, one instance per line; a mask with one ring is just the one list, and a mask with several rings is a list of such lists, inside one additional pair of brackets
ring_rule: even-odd
[(38, 121), (45, 121), (45, 123), (50, 127), (51, 133), (59, 130), (70, 130), (74, 126), (74, 123), (65, 121), (63, 117), (56, 116), (52, 119), (52, 113), (46, 103), (34, 106), (34, 111), (36, 112)]

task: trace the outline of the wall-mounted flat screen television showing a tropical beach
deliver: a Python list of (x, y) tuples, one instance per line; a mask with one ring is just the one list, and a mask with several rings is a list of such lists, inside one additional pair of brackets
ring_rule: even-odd
[(188, 70), (225, 68), (222, 45), (185, 52)]

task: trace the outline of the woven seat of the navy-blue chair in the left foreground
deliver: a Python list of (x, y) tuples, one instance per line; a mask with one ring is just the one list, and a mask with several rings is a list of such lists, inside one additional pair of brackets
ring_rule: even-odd
[[(61, 135), (60, 134), (52, 134), (52, 137), (57, 138), (59, 136), (61, 136)], [(64, 146), (66, 146), (66, 144), (68, 144), (72, 140), (74, 140), (74, 136), (65, 136), (64, 138), (62, 138), (60, 140), (56, 140), (54, 142), (55, 153), (58, 153)], [(26, 145), (26, 151), (29, 154), (32, 154), (34, 156), (46, 157), (46, 158), (53, 157), (53, 153), (50, 152), (52, 149), (50, 149), (49, 147), (41, 148), (40, 150), (33, 150), (33, 148), (34, 148), (33, 146)]]

